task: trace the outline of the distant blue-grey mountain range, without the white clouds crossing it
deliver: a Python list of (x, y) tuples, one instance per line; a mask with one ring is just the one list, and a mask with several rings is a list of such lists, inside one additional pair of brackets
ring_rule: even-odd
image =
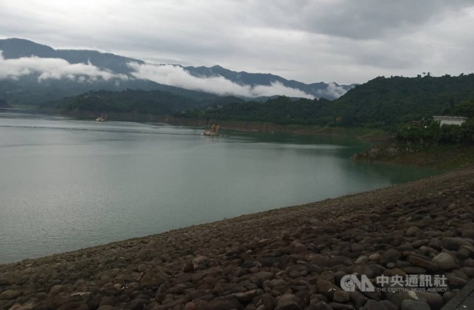
[[(3, 51), (3, 58), (6, 60), (18, 59), (22, 57), (31, 57), (32, 55), (34, 55), (39, 58), (63, 59), (69, 62), (70, 64), (90, 63), (98, 68), (106, 70), (107, 72), (125, 74), (127, 76), (131, 76), (131, 74), (133, 73), (133, 69), (128, 65), (130, 62), (134, 62), (141, 65), (146, 64), (144, 61), (139, 59), (123, 57), (112, 53), (103, 53), (96, 50), (53, 49), (52, 47), (47, 45), (42, 45), (33, 41), (17, 38), (0, 40), (0, 50)], [(283, 86), (285, 87), (297, 89), (309, 95), (326, 99), (336, 99), (340, 95), (345, 93), (347, 90), (354, 87), (354, 84), (339, 85), (337, 83), (328, 84), (324, 82), (306, 84), (295, 80), (287, 80), (278, 75), (268, 73), (248, 73), (243, 71), (236, 72), (226, 68), (222, 68), (220, 66), (181, 67), (193, 76), (222, 76), (241, 86), (270, 86), (272, 83), (278, 82), (283, 84)], [(37, 89), (40, 95), (44, 92), (49, 92), (49, 95), (52, 96), (49, 96), (47, 100), (60, 98), (54, 98), (54, 93), (61, 94), (61, 96), (64, 97), (77, 95), (88, 90), (99, 89), (114, 91), (120, 91), (128, 88), (144, 90), (165, 90), (180, 95), (189, 91), (195, 92), (195, 95), (197, 93), (202, 93), (202, 91), (199, 90), (185, 90), (183, 88), (164, 85), (147, 79), (136, 78), (134, 78), (133, 80), (110, 79), (109, 81), (98, 81), (95, 84), (90, 85), (84, 85), (77, 82), (74, 84), (71, 83), (71, 81), (64, 80), (49, 80), (46, 83), (47, 85), (45, 85), (44, 87), (39, 83), (35, 83), (35, 78), (28, 79), (22, 77), (20, 78), (20, 80), (22, 81), (20, 82), (14, 79), (0, 79), (0, 97), (4, 97), (4, 99), (6, 99), (7, 101), (25, 100), (27, 96), (24, 95), (24, 92), (28, 92), (31, 89)], [(64, 84), (68, 84), (68, 87), (65, 88)], [(336, 89), (336, 91), (334, 91), (334, 89)], [(4, 93), (2, 93), (2, 90), (4, 90)], [(5, 91), (10, 93), (6, 94)], [(23, 93), (23, 95), (20, 95), (20, 93)], [(37, 98), (40, 97), (41, 96), (37, 96)]]

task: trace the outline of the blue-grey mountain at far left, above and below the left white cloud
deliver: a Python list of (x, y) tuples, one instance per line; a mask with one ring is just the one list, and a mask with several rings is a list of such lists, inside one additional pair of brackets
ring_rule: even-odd
[[(100, 68), (127, 74), (131, 69), (126, 65), (133, 61), (143, 61), (122, 57), (110, 53), (101, 53), (93, 50), (55, 50), (49, 46), (41, 45), (22, 39), (0, 40), (0, 50), (4, 59), (18, 59), (35, 55), (41, 58), (60, 58), (71, 64), (92, 63)], [(219, 97), (215, 94), (201, 91), (186, 90), (179, 87), (159, 84), (144, 79), (96, 79), (94, 82), (78, 82), (75, 79), (44, 79), (38, 81), (40, 73), (32, 72), (17, 78), (1, 78), (0, 98), (11, 104), (41, 104), (47, 101), (59, 100), (64, 97), (80, 95), (88, 91), (109, 90), (122, 91), (126, 89), (162, 90), (176, 95), (186, 96), (196, 100), (214, 100)]]

